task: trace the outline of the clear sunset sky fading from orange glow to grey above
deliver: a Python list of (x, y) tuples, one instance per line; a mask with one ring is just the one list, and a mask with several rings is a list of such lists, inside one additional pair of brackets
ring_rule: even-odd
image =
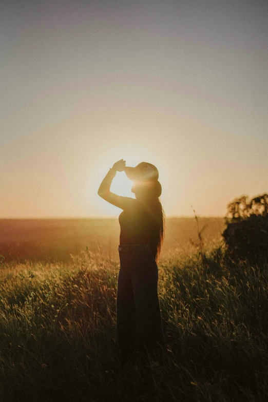
[[(0, 17), (0, 217), (109, 217), (114, 162), (167, 216), (268, 192), (266, 1), (12, 1)], [(132, 196), (124, 173), (111, 190)]]

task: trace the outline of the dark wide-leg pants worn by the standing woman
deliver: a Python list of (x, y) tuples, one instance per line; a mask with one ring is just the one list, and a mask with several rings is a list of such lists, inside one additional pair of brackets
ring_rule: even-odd
[(117, 337), (122, 359), (164, 346), (158, 267), (147, 244), (120, 245)]

